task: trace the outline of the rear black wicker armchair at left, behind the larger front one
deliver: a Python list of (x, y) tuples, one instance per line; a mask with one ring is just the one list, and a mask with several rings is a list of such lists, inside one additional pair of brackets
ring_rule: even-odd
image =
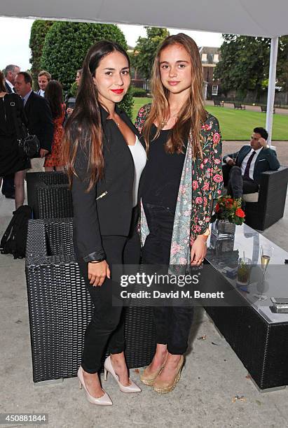
[(64, 172), (27, 174), (27, 199), (34, 218), (73, 217), (71, 192)]

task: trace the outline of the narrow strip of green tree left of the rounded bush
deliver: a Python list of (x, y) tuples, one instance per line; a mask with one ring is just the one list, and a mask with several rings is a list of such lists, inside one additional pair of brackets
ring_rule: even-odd
[(38, 73), (41, 71), (40, 62), (43, 50), (43, 43), (46, 34), (50, 29), (53, 21), (35, 20), (32, 24), (29, 48), (31, 49), (31, 58), (29, 59), (31, 66), (31, 73), (33, 78), (33, 85), (36, 89), (38, 87)]

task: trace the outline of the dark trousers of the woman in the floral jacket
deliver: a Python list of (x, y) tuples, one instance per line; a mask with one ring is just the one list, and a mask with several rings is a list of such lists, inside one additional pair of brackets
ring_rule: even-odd
[[(174, 209), (144, 204), (150, 234), (142, 250), (143, 264), (169, 265)], [(193, 307), (153, 307), (157, 343), (167, 345), (170, 354), (183, 355), (193, 321)]]

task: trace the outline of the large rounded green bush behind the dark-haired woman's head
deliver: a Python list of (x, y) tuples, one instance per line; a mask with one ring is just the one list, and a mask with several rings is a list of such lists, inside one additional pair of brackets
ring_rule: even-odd
[[(128, 48), (121, 29), (112, 24), (90, 24), (88, 22), (55, 22), (46, 34), (41, 57), (41, 67), (49, 71), (53, 79), (62, 83), (69, 92), (76, 71), (81, 69), (90, 46), (100, 40), (116, 41)], [(133, 100), (130, 94), (121, 103), (128, 115), (132, 115)]]

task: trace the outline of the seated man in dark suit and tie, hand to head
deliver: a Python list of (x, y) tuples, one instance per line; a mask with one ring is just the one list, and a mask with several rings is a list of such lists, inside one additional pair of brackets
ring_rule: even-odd
[(239, 152), (224, 156), (223, 162), (231, 166), (227, 193), (233, 198), (258, 192), (261, 173), (280, 167), (275, 150), (268, 147), (267, 138), (266, 129), (254, 128), (250, 145), (243, 145)]

